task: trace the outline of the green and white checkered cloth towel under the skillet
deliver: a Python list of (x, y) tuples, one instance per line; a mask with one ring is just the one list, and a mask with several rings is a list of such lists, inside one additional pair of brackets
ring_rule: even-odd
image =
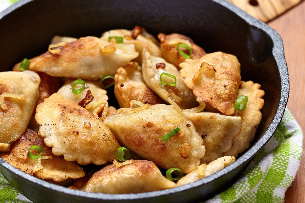
[[(284, 117), (268, 143), (258, 152), (242, 177), (228, 190), (206, 203), (280, 203), (296, 176), (302, 155), (303, 132), (286, 108)], [(0, 202), (27, 200), (0, 174)]]

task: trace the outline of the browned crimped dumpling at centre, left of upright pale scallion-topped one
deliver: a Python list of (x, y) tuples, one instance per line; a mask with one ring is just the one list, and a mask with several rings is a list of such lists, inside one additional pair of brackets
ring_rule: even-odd
[(114, 76), (114, 95), (121, 108), (129, 108), (132, 100), (142, 103), (164, 104), (165, 102), (151, 91), (138, 71), (138, 63), (130, 62), (124, 68), (120, 67)]

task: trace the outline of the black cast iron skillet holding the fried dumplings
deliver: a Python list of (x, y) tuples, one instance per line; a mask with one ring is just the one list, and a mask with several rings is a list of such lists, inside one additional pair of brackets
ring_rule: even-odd
[(24, 57), (44, 53), (56, 34), (100, 36), (109, 29), (132, 29), (135, 25), (144, 26), (155, 36), (160, 32), (182, 33), (207, 52), (221, 50), (237, 56), (242, 80), (260, 83), (266, 93), (263, 117), (252, 147), (209, 177), (177, 188), (140, 194), (76, 191), (30, 176), (0, 159), (1, 173), (31, 201), (204, 201), (233, 184), (277, 128), (289, 95), (282, 40), (269, 26), (222, 0), (22, 0), (0, 13), (0, 71), (10, 71)]

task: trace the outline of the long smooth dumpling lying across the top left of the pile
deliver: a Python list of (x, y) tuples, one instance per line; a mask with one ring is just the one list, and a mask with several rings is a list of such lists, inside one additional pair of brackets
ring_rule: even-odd
[(58, 43), (38, 57), (30, 59), (29, 70), (56, 77), (98, 80), (115, 75), (119, 67), (138, 57), (132, 44), (116, 44), (97, 37), (81, 37), (70, 43)]

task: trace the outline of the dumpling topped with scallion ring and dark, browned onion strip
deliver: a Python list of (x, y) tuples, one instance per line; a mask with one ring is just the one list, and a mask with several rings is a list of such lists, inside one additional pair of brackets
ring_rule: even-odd
[[(71, 80), (67, 80), (65, 84), (57, 91), (57, 93), (66, 99), (76, 102), (77, 104), (81, 105), (83, 108), (88, 109), (95, 116), (100, 117), (105, 107), (105, 104), (108, 101), (108, 96), (106, 95), (107, 91), (99, 87), (99, 82), (87, 81), (87, 80), (85, 80), (84, 82), (85, 82), (85, 89), (79, 95), (76, 95), (72, 92)], [(77, 85), (75, 85), (75, 88), (78, 88)], [(108, 103), (106, 104), (106, 106), (108, 107)]]

